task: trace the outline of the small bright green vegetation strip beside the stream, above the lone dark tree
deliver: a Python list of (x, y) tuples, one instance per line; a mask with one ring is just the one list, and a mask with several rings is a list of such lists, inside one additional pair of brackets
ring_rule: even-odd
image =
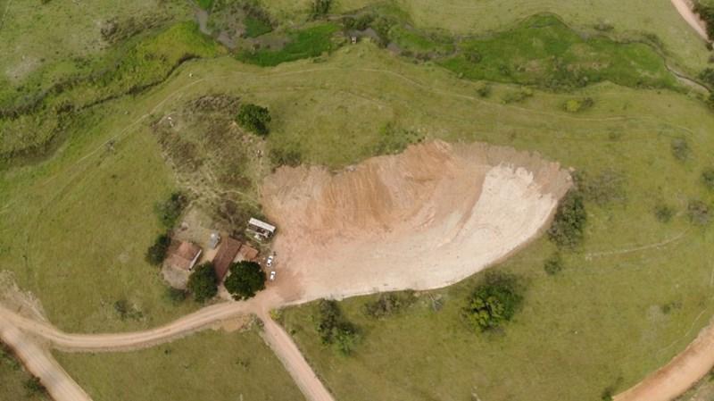
[(334, 49), (332, 36), (338, 30), (339, 26), (329, 22), (289, 31), (287, 33), (288, 41), (282, 48), (277, 50), (270, 48), (243, 50), (237, 54), (237, 59), (244, 63), (266, 67), (303, 58), (317, 57)]

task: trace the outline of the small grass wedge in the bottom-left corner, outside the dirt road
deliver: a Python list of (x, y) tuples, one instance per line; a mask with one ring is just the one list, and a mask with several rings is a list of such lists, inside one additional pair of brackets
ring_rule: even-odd
[(49, 401), (43, 392), (29, 391), (26, 387), (32, 375), (25, 371), (10, 350), (0, 343), (0, 401)]

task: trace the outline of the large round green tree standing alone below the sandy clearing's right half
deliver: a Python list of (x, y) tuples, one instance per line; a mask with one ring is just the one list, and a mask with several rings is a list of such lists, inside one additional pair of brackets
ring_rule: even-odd
[(486, 331), (509, 322), (523, 297), (518, 280), (511, 274), (486, 273), (485, 280), (474, 289), (464, 316), (474, 330)]

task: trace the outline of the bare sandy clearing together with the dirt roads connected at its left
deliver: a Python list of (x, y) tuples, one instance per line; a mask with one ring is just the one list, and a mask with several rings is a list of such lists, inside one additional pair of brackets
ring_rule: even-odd
[(37, 319), (36, 305), (23, 311), (14, 302), (0, 306), (0, 337), (56, 401), (85, 401), (89, 397), (40, 344), (74, 352), (127, 351), (255, 313), (265, 323), (266, 343), (305, 396), (332, 401), (293, 340), (270, 320), (271, 308), (452, 284), (535, 238), (569, 185), (567, 172), (537, 155), (444, 142), (369, 159), (335, 175), (320, 168), (282, 169), (263, 193), (281, 227), (279, 275), (257, 297), (119, 334), (64, 333)]

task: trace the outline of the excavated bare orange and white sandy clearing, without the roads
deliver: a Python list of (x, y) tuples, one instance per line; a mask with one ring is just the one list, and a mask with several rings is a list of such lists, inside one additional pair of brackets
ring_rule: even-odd
[(538, 155), (440, 141), (336, 174), (282, 167), (262, 187), (273, 285), (286, 301), (447, 286), (535, 238), (570, 182)]

